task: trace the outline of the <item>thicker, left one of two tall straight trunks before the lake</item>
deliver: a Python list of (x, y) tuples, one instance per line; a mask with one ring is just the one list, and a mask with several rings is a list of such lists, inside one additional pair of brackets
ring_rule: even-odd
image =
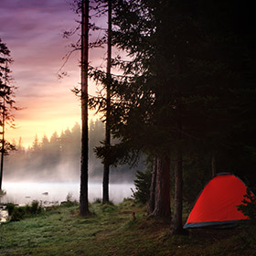
[(80, 215), (90, 214), (88, 202), (88, 36), (89, 0), (81, 2), (81, 161)]

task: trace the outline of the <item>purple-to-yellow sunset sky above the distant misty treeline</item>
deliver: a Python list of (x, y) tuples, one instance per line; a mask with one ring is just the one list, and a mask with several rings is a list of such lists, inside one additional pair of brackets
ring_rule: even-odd
[[(70, 6), (71, 0), (1, 0), (0, 38), (11, 50), (14, 63), (17, 128), (6, 128), (6, 138), (16, 142), (22, 137), (24, 146), (31, 145), (37, 134), (41, 139), (57, 131), (80, 123), (80, 101), (70, 91), (80, 87), (80, 52), (74, 53), (64, 71), (68, 76), (58, 79), (63, 57), (69, 44), (78, 37), (63, 38), (62, 33), (77, 27)], [(98, 32), (102, 33), (102, 32)], [(100, 37), (101, 35), (97, 35)], [(94, 62), (102, 62), (102, 55), (91, 54)], [(89, 84), (89, 93), (95, 86)], [(91, 114), (92, 117), (92, 114)]]

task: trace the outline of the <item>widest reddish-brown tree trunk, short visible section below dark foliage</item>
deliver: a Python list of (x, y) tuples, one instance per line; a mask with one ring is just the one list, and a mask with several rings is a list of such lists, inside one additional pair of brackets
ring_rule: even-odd
[(151, 216), (171, 220), (170, 159), (168, 156), (156, 160), (155, 189), (155, 209)]

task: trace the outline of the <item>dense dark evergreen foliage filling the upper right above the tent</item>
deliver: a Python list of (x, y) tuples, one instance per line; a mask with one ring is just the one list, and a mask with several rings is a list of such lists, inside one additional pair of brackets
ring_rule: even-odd
[[(201, 187), (208, 179), (213, 156), (217, 171), (250, 176), (255, 183), (251, 9), (229, 0), (115, 1), (113, 43), (123, 50), (112, 59), (123, 71), (112, 75), (116, 148), (126, 160), (142, 151), (171, 155), (172, 161), (182, 148), (188, 196), (192, 184)], [(106, 78), (100, 70), (91, 76)], [(106, 107), (102, 97), (91, 105)]]

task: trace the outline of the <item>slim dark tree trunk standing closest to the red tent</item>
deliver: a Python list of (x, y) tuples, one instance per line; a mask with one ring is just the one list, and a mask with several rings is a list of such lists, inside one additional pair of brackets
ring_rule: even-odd
[(182, 202), (183, 202), (183, 176), (182, 176), (182, 152), (178, 150), (175, 165), (175, 211), (171, 233), (183, 234)]

